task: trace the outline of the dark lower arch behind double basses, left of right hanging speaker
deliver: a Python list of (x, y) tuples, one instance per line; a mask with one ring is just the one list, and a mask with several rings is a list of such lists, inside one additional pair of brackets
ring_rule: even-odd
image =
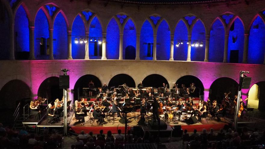
[(210, 86), (209, 97), (220, 103), (224, 98), (225, 92), (231, 92), (229, 95), (230, 98), (237, 95), (238, 86), (238, 83), (234, 79), (227, 77), (218, 78)]

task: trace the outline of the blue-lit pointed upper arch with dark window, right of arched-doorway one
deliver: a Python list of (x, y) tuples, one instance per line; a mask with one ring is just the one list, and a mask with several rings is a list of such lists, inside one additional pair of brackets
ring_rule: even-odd
[(154, 26), (148, 20), (144, 21), (140, 31), (140, 59), (152, 60), (153, 59), (153, 42), (154, 42)]

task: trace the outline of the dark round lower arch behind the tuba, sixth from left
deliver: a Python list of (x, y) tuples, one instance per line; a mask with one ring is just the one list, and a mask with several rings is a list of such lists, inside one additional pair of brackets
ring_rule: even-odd
[[(185, 85), (185, 87), (190, 87), (190, 85), (194, 83), (195, 85), (195, 93), (194, 96), (195, 97), (199, 97), (200, 95), (204, 95), (204, 86), (201, 82), (201, 80), (199, 78), (197, 78), (196, 76), (191, 76), (191, 75), (187, 75), (187, 76), (182, 76), (180, 77), (177, 81), (176, 84), (178, 84), (178, 88), (181, 88), (181, 85)], [(182, 91), (181, 91), (182, 92)]]

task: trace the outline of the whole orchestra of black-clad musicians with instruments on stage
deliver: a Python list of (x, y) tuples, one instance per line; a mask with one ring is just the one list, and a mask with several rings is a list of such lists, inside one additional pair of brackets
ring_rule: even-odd
[[(90, 81), (89, 84), (92, 85), (93, 82)], [(139, 88), (129, 88), (124, 84), (122, 90), (121, 88), (109, 90), (106, 83), (104, 83), (102, 88), (98, 88), (98, 94), (94, 101), (90, 101), (90, 98), (79, 98), (74, 101), (73, 113), (75, 119), (79, 120), (81, 125), (84, 125), (85, 118), (92, 115), (97, 120), (98, 125), (103, 125), (107, 123), (104, 121), (105, 117), (114, 117), (115, 113), (117, 113), (117, 117), (121, 117), (121, 113), (124, 116), (124, 107), (132, 107), (131, 112), (139, 112), (141, 118), (145, 118), (146, 114), (151, 112), (153, 121), (158, 123), (160, 123), (160, 119), (165, 119), (168, 122), (185, 121), (187, 115), (188, 117), (196, 116), (198, 122), (201, 122), (202, 118), (206, 118), (208, 115), (220, 121), (220, 118), (225, 116), (227, 110), (234, 111), (236, 107), (237, 96), (235, 95), (234, 98), (230, 98), (231, 92), (225, 92), (223, 100), (219, 103), (217, 100), (211, 100), (210, 98), (207, 98), (206, 101), (198, 100), (198, 98), (195, 99), (196, 87), (194, 83), (191, 83), (189, 88), (186, 88), (182, 84), (180, 87), (182, 93), (178, 88), (178, 84), (174, 84), (171, 90), (167, 88), (165, 83), (162, 84), (162, 89), (145, 88), (142, 82), (138, 86)], [(132, 91), (134, 92), (131, 93)], [(184, 98), (184, 95), (188, 95), (188, 97)], [(186, 99), (188, 100), (186, 101)], [(36, 120), (40, 120), (40, 112), (42, 111), (40, 105), (44, 106), (46, 100), (38, 97), (35, 101), (30, 102), (30, 113), (34, 114)], [(248, 98), (245, 100), (248, 100)], [(64, 101), (60, 101), (58, 98), (55, 99), (53, 105), (51, 103), (45, 108), (47, 109), (49, 124), (60, 121), (60, 117), (63, 116), (64, 107)], [(240, 115), (244, 116), (246, 105), (242, 98), (240, 98), (240, 109)], [(88, 114), (88, 111), (92, 114)], [(233, 112), (231, 113), (233, 114)]]

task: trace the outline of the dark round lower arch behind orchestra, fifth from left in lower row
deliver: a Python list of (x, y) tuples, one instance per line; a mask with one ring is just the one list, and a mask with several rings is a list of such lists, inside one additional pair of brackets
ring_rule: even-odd
[(153, 87), (153, 88), (159, 88), (165, 83), (167, 85), (167, 88), (169, 88), (167, 79), (164, 76), (161, 76), (159, 74), (151, 74), (142, 81), (144, 87)]

